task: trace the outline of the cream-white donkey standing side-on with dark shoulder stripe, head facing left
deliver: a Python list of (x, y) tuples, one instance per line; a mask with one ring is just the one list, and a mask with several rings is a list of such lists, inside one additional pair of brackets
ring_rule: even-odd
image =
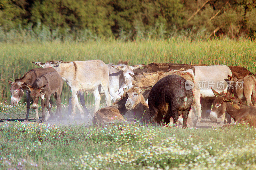
[[(47, 63), (35, 63), (43, 68), (53, 67), (71, 87), (71, 103), (72, 114), (70, 118), (74, 118), (76, 114), (76, 107), (78, 108), (81, 118), (84, 118), (84, 112), (82, 107), (78, 103), (77, 92), (93, 92), (95, 97), (95, 106), (93, 115), (99, 110), (100, 107), (100, 93), (99, 86), (102, 88), (106, 95), (107, 106), (111, 105), (110, 94), (108, 92), (109, 80), (108, 80), (108, 66), (101, 60), (89, 60), (89, 61), (74, 61), (63, 62), (60, 61), (48, 61)], [(92, 118), (92, 115), (88, 115)]]

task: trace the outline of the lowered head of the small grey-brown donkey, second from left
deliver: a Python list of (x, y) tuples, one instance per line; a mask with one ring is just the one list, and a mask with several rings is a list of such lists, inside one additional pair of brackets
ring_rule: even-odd
[(42, 87), (36, 88), (36, 87), (31, 86), (31, 85), (28, 85), (27, 83), (24, 83), (24, 84), (28, 87), (28, 89), (30, 91), (30, 97), (31, 97), (32, 102), (33, 102), (32, 108), (36, 109), (39, 98), (41, 97), (44, 100), (44, 94), (41, 93), (41, 92), (42, 92), (42, 90), (44, 90), (44, 87), (46, 85), (43, 85)]

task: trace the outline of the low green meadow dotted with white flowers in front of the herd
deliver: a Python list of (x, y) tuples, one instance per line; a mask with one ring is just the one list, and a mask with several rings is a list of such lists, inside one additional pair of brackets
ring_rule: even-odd
[(3, 169), (254, 169), (256, 129), (0, 124)]

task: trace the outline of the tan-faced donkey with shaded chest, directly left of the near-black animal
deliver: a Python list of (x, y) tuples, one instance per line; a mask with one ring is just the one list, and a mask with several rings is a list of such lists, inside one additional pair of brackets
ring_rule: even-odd
[(149, 122), (149, 108), (141, 92), (147, 91), (151, 87), (133, 86), (129, 90), (124, 89), (125, 96), (128, 97), (125, 103), (126, 109), (131, 110), (135, 118), (142, 124)]

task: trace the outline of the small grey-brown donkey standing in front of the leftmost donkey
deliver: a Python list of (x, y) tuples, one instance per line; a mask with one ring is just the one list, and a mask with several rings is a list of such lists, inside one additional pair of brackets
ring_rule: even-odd
[[(42, 112), (43, 112), (43, 119), (42, 121), (47, 121), (50, 117), (49, 114), (44, 114), (44, 107), (46, 107), (49, 111), (49, 113), (52, 115), (52, 111), (50, 109), (50, 97), (52, 94), (55, 94), (55, 99), (57, 101), (57, 110), (55, 115), (59, 115), (59, 118), (61, 118), (61, 100), (60, 100), (60, 94), (63, 86), (63, 79), (60, 77), (59, 73), (56, 71), (48, 74), (44, 74), (43, 76), (39, 77), (36, 86), (28, 85), (26, 82), (24, 83), (29, 91), (30, 91), (30, 97), (33, 101), (33, 108), (37, 108), (38, 99), (41, 97), (42, 101)], [(44, 102), (45, 97), (45, 102)], [(47, 112), (48, 113), (48, 112)], [(38, 113), (36, 114), (36, 122), (39, 122), (39, 116)]]

